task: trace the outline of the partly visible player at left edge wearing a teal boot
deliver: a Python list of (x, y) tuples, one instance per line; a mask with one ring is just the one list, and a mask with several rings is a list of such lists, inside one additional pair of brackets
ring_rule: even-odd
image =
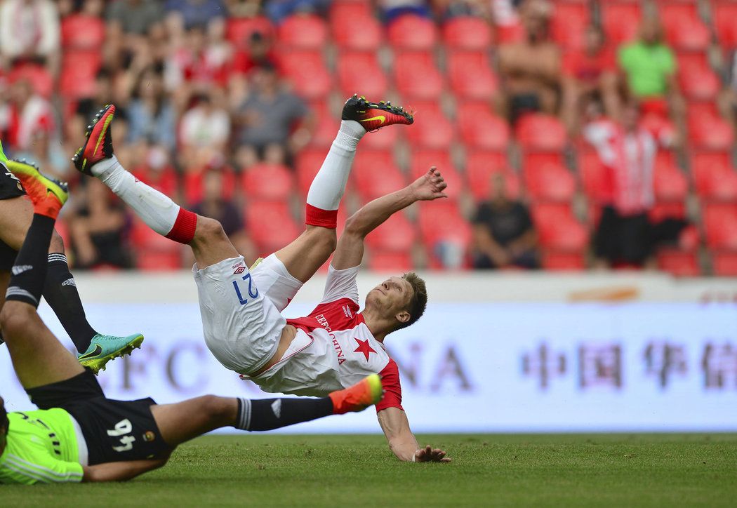
[[(5, 300), (10, 269), (26, 237), (32, 216), (33, 207), (26, 199), (26, 191), (21, 181), (8, 170), (7, 157), (0, 144), (0, 308)], [(74, 342), (81, 364), (97, 373), (111, 359), (130, 353), (141, 345), (141, 334), (119, 337), (99, 334), (91, 327), (77, 292), (77, 283), (66, 263), (64, 242), (56, 231), (52, 234), (46, 263), (49, 267), (43, 297)], [(0, 344), (2, 342), (3, 336), (0, 334)]]

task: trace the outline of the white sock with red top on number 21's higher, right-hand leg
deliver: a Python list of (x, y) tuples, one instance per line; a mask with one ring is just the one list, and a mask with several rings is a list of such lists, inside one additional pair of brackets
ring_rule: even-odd
[[(340, 199), (346, 191), (346, 183), (348, 183), (348, 176), (356, 155), (356, 147), (364, 134), (366, 130), (357, 121), (343, 120), (340, 122), (338, 135), (332, 142), (318, 174), (315, 174), (310, 191), (307, 192), (306, 222), (308, 225), (335, 227), (335, 225), (325, 225), (325, 221), (327, 220), (330, 224), (335, 222), (330, 217), (337, 217)], [(325, 214), (324, 212), (334, 213)]]

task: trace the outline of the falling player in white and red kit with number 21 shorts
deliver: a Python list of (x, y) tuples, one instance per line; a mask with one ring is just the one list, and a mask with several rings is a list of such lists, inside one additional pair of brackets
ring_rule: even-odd
[[(388, 102), (348, 99), (338, 135), (307, 194), (304, 233), (249, 270), (219, 222), (181, 208), (120, 165), (109, 129), (114, 114), (113, 105), (97, 114), (74, 165), (102, 180), (157, 233), (192, 247), (203, 333), (215, 358), (266, 392), (296, 395), (321, 397), (380, 373), (385, 396), (377, 416), (394, 454), (403, 461), (448, 462), (444, 451), (419, 447), (402, 409), (397, 364), (383, 345), (388, 334), (422, 316), (425, 282), (412, 272), (388, 278), (368, 293), (363, 311), (356, 286), (366, 235), (413, 202), (446, 197), (447, 184), (433, 167), (357, 211), (340, 241), (335, 233), (360, 139), (381, 127), (412, 124), (413, 117)], [(286, 320), (281, 312), (334, 251), (321, 303), (307, 317)]]

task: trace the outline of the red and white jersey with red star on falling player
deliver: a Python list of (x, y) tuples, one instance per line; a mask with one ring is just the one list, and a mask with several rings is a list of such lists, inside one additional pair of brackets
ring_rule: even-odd
[(358, 267), (329, 267), (321, 303), (309, 316), (287, 320), (297, 335), (282, 360), (249, 379), (265, 392), (324, 397), (379, 373), (385, 395), (377, 411), (402, 409), (397, 364), (358, 312), (357, 273)]

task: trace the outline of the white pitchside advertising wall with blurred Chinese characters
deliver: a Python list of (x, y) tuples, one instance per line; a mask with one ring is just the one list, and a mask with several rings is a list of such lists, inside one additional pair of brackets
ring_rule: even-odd
[[(365, 274), (365, 294), (383, 275)], [(319, 299), (310, 281), (287, 309)], [(389, 336), (415, 431), (737, 431), (737, 280), (665, 275), (429, 275), (430, 306)], [(146, 336), (99, 376), (111, 398), (270, 397), (204, 345), (189, 274), (77, 278), (90, 321)], [(68, 341), (52, 312), (43, 319)], [(0, 395), (29, 409), (0, 347)], [(287, 428), (379, 431), (374, 411)]]

